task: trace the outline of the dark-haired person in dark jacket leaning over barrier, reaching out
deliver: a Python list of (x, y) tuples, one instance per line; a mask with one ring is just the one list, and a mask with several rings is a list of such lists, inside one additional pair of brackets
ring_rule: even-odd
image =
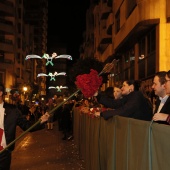
[(96, 113), (105, 120), (115, 116), (124, 116), (140, 120), (150, 121), (152, 119), (152, 104), (148, 98), (139, 91), (140, 82), (126, 80), (121, 88), (123, 95), (123, 105), (117, 109), (106, 110)]

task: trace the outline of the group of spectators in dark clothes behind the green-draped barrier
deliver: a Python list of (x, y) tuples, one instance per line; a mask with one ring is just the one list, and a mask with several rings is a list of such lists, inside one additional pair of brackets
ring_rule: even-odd
[[(109, 87), (105, 92), (97, 92), (95, 97), (106, 109), (96, 111), (95, 116), (105, 120), (124, 116), (145, 121), (170, 124), (170, 71), (157, 72), (148, 93), (138, 80), (125, 80), (120, 86)], [(83, 112), (90, 108), (82, 107)]]

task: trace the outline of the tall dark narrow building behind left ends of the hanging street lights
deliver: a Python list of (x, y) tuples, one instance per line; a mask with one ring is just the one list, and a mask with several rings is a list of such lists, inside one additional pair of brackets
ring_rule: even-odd
[[(48, 1), (24, 1), (24, 8), (24, 21), (34, 28), (34, 54), (43, 56), (44, 53), (47, 53)], [(33, 77), (34, 85), (38, 89), (38, 92), (36, 90), (34, 92), (34, 95), (38, 95), (37, 98), (46, 95), (46, 77), (37, 78), (38, 73), (46, 73), (45, 64), (45, 60), (36, 60)]]

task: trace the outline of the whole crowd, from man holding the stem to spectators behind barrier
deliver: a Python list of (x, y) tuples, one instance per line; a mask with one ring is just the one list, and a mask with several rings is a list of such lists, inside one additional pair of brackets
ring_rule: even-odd
[[(58, 121), (58, 130), (63, 132), (63, 140), (73, 137), (74, 107), (81, 106), (84, 113), (92, 112), (105, 120), (119, 115), (144, 121), (170, 124), (170, 70), (157, 72), (151, 89), (142, 86), (140, 81), (125, 80), (122, 85), (108, 87), (104, 92), (97, 91), (91, 98), (81, 94), (76, 100), (64, 101), (62, 96), (54, 95), (45, 105), (11, 105), (4, 101), (5, 87), (0, 84), (0, 151), (15, 139), (16, 126), (24, 131), (40, 120), (31, 131), (42, 128), (53, 129)], [(58, 104), (63, 105), (54, 109)], [(93, 109), (92, 109), (93, 108)], [(99, 109), (94, 109), (99, 108)], [(95, 110), (95, 111), (94, 111)], [(49, 114), (50, 113), (50, 114)], [(0, 153), (0, 169), (10, 169), (11, 152), (15, 144)]]

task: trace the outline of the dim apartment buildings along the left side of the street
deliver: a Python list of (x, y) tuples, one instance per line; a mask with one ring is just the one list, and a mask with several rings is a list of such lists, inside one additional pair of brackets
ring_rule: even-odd
[[(34, 59), (26, 61), (25, 57), (28, 54), (42, 55), (46, 51), (47, 26), (44, 25), (47, 25), (48, 4), (45, 0), (36, 1), (41, 5), (38, 9), (34, 8), (38, 13), (38, 16), (33, 16), (34, 20), (40, 21), (42, 18), (44, 21), (37, 22), (42, 30), (40, 32), (36, 30), (37, 25), (27, 19), (32, 13), (29, 8), (32, 1), (27, 2), (29, 3), (23, 0), (0, 0), (0, 81), (6, 87), (7, 102), (12, 102), (12, 89), (23, 94), (24, 86), (28, 87), (28, 95), (33, 93), (36, 85), (40, 87), (37, 94), (45, 94), (45, 81), (37, 80), (38, 69), (45, 70), (43, 63)], [(25, 95), (21, 97), (24, 100)]]

